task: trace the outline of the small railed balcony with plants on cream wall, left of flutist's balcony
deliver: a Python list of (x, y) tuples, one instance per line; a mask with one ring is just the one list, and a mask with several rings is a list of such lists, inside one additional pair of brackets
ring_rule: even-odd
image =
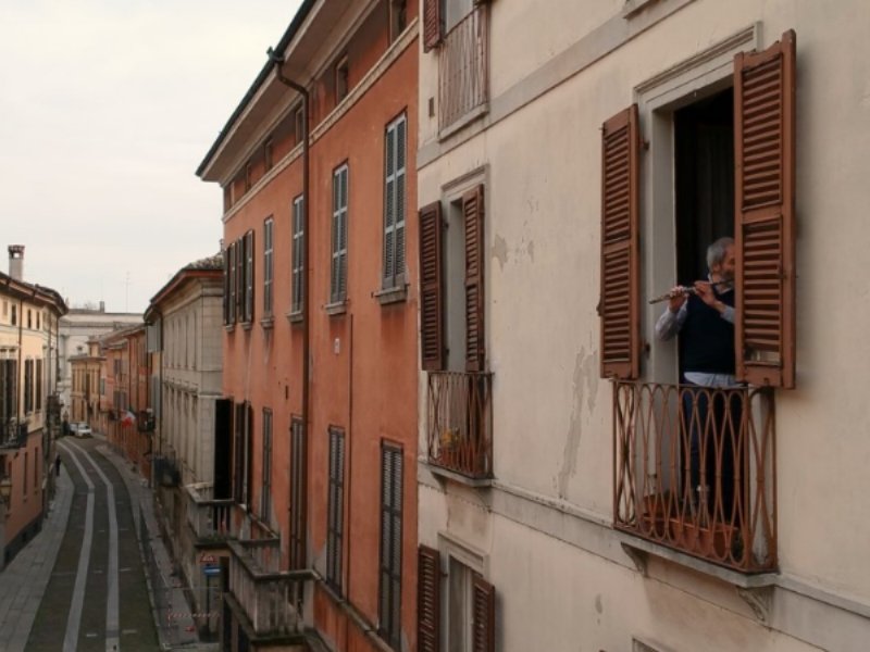
[(493, 374), (428, 375), (431, 464), (472, 479), (493, 477)]

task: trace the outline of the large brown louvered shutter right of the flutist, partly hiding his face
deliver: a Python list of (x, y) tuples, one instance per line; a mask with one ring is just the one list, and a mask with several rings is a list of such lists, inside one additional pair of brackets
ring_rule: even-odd
[(795, 386), (795, 33), (734, 60), (737, 375)]

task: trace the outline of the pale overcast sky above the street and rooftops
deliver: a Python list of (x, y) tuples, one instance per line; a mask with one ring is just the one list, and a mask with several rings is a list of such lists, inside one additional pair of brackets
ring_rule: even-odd
[(0, 0), (0, 269), (141, 312), (219, 250), (195, 171), (299, 0)]

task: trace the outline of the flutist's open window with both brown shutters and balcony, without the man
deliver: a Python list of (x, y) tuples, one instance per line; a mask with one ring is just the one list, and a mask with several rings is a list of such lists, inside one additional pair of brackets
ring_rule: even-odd
[[(743, 572), (776, 564), (772, 389), (795, 380), (795, 35), (747, 52), (753, 38), (658, 75), (605, 123), (599, 304), (616, 527)], [(686, 386), (676, 347), (651, 346), (663, 305), (646, 298), (704, 278), (720, 236), (746, 385)]]

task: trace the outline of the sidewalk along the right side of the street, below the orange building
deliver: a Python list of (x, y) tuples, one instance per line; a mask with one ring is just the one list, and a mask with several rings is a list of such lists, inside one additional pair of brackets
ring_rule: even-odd
[[(161, 649), (206, 650), (211, 648), (211, 645), (200, 645), (182, 582), (172, 575), (172, 557), (160, 536), (160, 527), (154, 516), (153, 494), (148, 488), (147, 480), (126, 460), (112, 450), (105, 441), (105, 437), (99, 432), (95, 432), (94, 437), (103, 442), (97, 447), (97, 452), (117, 468), (124, 479), (124, 484), (127, 486), (139, 546), (149, 546), (152, 551), (158, 577), (151, 576), (154, 566), (149, 567), (145, 555), (142, 564), (146, 566), (151, 610), (154, 612), (154, 623)], [(140, 531), (140, 524), (142, 523), (145, 523), (146, 531)], [(146, 551), (144, 550), (142, 552), (145, 553)], [(158, 609), (158, 603), (154, 600), (156, 591), (167, 591), (165, 599), (160, 601), (161, 605), (167, 605), (165, 609)], [(3, 650), (1, 644), (0, 650)]]

